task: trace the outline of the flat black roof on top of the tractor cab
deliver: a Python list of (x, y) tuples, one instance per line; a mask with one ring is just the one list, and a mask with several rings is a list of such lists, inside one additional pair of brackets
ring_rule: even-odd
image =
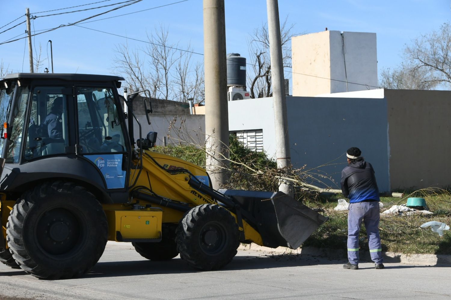
[[(1, 79), (1, 78), (0, 78)], [(123, 77), (114, 75), (74, 74), (74, 73), (12, 73), (3, 79), (60, 79), (67, 81), (121, 81)]]

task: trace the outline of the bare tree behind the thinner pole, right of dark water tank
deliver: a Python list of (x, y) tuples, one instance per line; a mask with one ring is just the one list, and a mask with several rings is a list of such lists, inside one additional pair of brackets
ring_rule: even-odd
[[(281, 25), (282, 63), (284, 68), (291, 68), (291, 37), (295, 24), (287, 24), (288, 17)], [(249, 54), (253, 55), (248, 68), (247, 82), (251, 98), (272, 96), (271, 62), (269, 54), (269, 36), (267, 23), (255, 28), (248, 39)]]

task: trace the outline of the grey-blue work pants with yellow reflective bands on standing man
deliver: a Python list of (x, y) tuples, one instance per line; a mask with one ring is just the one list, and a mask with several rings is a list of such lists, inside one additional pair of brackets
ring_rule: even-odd
[(349, 205), (348, 214), (348, 259), (351, 264), (359, 264), (359, 232), (362, 220), (368, 233), (371, 259), (382, 264), (382, 246), (379, 236), (379, 202), (358, 202)]

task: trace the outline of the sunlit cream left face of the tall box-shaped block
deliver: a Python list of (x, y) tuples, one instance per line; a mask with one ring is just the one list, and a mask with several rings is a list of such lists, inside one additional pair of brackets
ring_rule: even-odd
[[(330, 31), (293, 36), (293, 96), (314, 96), (331, 92)], [(308, 74), (313, 76), (305, 76)]]

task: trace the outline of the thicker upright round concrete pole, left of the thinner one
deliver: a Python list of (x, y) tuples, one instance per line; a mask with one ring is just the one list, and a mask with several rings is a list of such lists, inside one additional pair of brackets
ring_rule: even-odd
[(205, 134), (207, 171), (217, 189), (227, 182), (229, 112), (227, 103), (226, 18), (224, 0), (203, 0)]

